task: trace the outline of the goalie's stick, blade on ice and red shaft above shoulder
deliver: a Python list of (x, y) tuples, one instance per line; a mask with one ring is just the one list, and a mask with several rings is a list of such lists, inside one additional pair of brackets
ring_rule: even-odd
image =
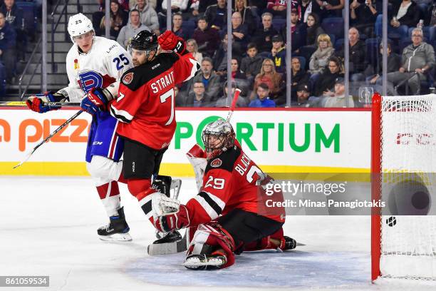
[[(226, 121), (229, 122), (230, 118), (232, 118), (234, 108), (236, 107), (236, 103), (239, 98), (239, 94), (241, 93), (241, 89), (237, 88), (234, 91), (234, 96), (232, 100), (232, 105), (229, 108), (229, 114), (227, 115)], [(178, 195), (178, 193), (177, 193)], [(177, 199), (177, 198), (176, 198)], [(188, 245), (190, 242), (187, 238), (189, 238), (189, 229), (186, 228), (185, 235), (183, 235), (182, 240), (179, 240), (177, 242), (168, 242), (168, 243), (162, 243), (162, 244), (150, 244), (147, 247), (147, 253), (148, 255), (170, 255), (174, 254), (176, 252), (185, 252), (187, 250)]]

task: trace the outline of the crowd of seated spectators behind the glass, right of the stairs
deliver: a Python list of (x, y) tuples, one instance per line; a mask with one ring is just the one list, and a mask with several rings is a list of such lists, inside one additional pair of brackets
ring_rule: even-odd
[[(344, 80), (345, 0), (291, 1), (291, 106), (358, 106), (361, 88), (382, 91), (383, 1), (351, 0), (350, 96)], [(286, 106), (285, 0), (232, 1), (232, 90), (242, 89), (240, 107)], [(104, 34), (104, 4), (93, 24)], [(172, 31), (202, 71), (178, 88), (177, 105), (227, 104), (227, 0), (171, 1)], [(388, 95), (424, 94), (433, 84), (436, 3), (393, 0), (388, 6)], [(166, 29), (167, 1), (111, 0), (110, 37), (123, 46), (143, 29)], [(353, 98), (354, 96), (354, 98)]]

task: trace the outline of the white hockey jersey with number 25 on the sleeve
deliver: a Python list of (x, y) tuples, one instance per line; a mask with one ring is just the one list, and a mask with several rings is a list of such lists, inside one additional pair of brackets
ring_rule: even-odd
[(88, 53), (80, 53), (77, 44), (68, 51), (66, 71), (70, 83), (58, 92), (68, 94), (70, 102), (80, 102), (91, 88), (106, 88), (120, 81), (129, 68), (133, 68), (130, 53), (116, 41), (95, 36)]

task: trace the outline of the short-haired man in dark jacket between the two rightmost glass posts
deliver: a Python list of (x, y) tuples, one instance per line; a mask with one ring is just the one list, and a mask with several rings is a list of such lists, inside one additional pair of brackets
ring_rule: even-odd
[[(348, 39), (350, 44), (349, 70), (351, 81), (363, 81), (365, 80), (363, 72), (367, 66), (365, 41), (360, 40), (359, 31), (355, 27), (348, 30)], [(344, 48), (342, 47), (335, 55), (344, 58)]]

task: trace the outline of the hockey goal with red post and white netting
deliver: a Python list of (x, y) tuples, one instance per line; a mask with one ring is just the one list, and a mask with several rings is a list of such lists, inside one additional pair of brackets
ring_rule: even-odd
[(375, 93), (372, 127), (372, 278), (436, 280), (436, 95)]

